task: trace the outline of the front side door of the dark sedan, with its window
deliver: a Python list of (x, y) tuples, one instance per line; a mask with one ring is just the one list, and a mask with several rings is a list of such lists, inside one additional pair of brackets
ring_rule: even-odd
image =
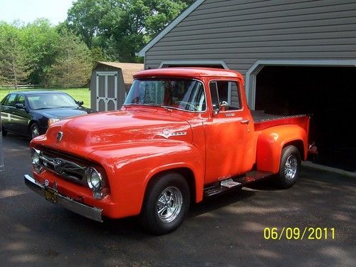
[[(16, 108), (16, 104), (23, 105), (23, 108)], [(21, 94), (16, 95), (15, 108), (11, 114), (11, 120), (13, 121), (14, 132), (19, 132), (22, 135), (28, 135), (28, 123), (31, 120), (31, 115), (26, 107), (25, 96)]]

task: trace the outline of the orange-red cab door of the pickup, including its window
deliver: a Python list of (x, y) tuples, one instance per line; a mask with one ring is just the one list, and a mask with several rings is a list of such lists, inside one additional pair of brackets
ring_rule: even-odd
[(248, 172), (255, 161), (253, 120), (246, 101), (242, 101), (240, 89), (237, 81), (209, 82), (214, 115), (204, 123), (205, 184)]

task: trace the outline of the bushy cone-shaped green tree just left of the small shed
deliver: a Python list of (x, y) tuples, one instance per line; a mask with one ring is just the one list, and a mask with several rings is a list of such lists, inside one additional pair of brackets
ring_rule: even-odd
[(56, 62), (51, 67), (51, 85), (80, 87), (88, 83), (92, 61), (89, 48), (70, 31), (62, 33)]

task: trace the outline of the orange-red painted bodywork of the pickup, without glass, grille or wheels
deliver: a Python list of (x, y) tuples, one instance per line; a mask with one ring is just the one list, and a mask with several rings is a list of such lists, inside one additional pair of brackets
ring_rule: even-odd
[[(194, 201), (203, 198), (208, 184), (258, 170), (277, 173), (281, 150), (288, 142), (301, 142), (307, 153), (308, 117), (253, 122), (246, 103), (241, 74), (211, 68), (144, 70), (134, 78), (184, 78), (199, 80), (205, 88), (206, 110), (189, 112), (149, 105), (124, 105), (122, 110), (100, 112), (54, 123), (46, 135), (31, 141), (38, 150), (54, 150), (102, 169), (110, 194), (94, 199), (88, 185), (44, 171), (34, 174), (43, 184), (56, 182), (58, 192), (90, 206), (103, 215), (121, 218), (140, 214), (147, 184), (157, 174), (189, 170), (194, 180)], [(209, 82), (235, 81), (240, 110), (214, 114)], [(246, 123), (248, 121), (248, 123)], [(63, 139), (57, 141), (57, 133)]]

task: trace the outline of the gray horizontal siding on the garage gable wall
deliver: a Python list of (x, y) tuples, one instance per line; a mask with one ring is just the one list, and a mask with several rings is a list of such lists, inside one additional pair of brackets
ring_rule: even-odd
[(355, 0), (206, 0), (146, 53), (162, 61), (224, 61), (245, 74), (263, 59), (355, 59)]

